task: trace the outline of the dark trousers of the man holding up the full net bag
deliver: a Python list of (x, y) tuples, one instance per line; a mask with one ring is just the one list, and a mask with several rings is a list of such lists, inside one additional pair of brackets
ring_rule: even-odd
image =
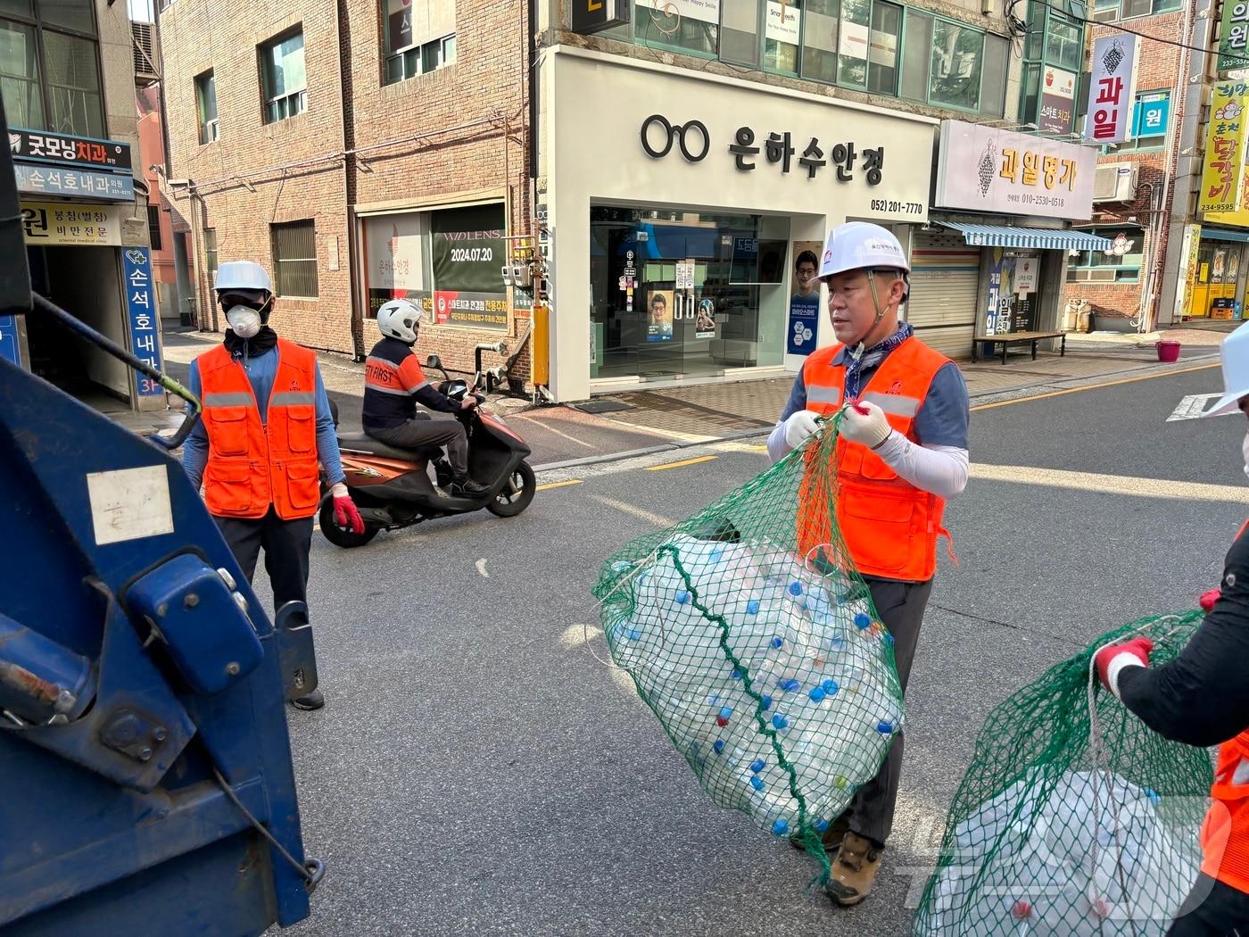
[[(902, 688), (906, 690), (933, 581), (899, 582), (868, 577), (864, 581), (881, 622), (893, 635), (893, 657), (898, 665)], [(894, 736), (881, 771), (858, 790), (847, 811), (851, 831), (877, 843), (884, 843), (893, 830), (893, 808), (898, 800), (898, 781), (902, 778), (902, 732)]]

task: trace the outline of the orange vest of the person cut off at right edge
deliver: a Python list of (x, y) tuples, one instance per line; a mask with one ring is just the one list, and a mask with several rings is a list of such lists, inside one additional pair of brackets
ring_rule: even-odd
[[(1249, 522), (1237, 537), (1247, 528)], [(1210, 810), (1202, 825), (1202, 871), (1249, 893), (1249, 728), (1219, 746)]]

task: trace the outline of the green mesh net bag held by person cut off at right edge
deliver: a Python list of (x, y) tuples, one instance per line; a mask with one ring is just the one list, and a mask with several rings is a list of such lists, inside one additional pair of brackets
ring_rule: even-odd
[(1200, 868), (1209, 752), (1090, 693), (1107, 643), (1147, 636), (1154, 665), (1202, 612), (1143, 618), (1055, 665), (985, 720), (954, 795), (914, 937), (1160, 937)]

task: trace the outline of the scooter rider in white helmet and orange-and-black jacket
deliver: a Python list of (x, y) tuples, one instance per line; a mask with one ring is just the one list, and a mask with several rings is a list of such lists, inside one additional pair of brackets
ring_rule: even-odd
[(442, 414), (477, 406), (473, 396), (457, 404), (426, 380), (412, 352), (422, 317), (407, 300), (391, 300), (377, 310), (377, 329), (383, 337), (365, 362), (361, 422), (366, 434), (395, 449), (446, 446), (455, 475), (450, 493), (481, 497), (490, 488), (468, 476), (468, 434), (463, 425), (458, 420), (417, 419), (417, 402)]

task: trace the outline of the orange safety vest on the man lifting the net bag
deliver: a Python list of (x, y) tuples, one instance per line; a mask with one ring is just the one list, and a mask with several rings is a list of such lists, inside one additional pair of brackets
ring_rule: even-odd
[[(807, 409), (831, 415), (842, 405), (846, 367), (833, 365), (842, 345), (819, 349), (803, 365)], [(937, 372), (949, 362), (916, 337), (907, 339), (881, 362), (859, 396), (884, 411), (889, 425), (912, 442), (916, 416)], [(814, 457), (812, 450), (808, 459)], [(863, 576), (923, 582), (937, 572), (937, 538), (945, 501), (901, 478), (883, 459), (858, 442), (837, 440), (837, 525), (849, 560)], [(808, 473), (808, 478), (813, 476)], [(798, 546), (817, 547), (838, 563), (838, 545), (828, 530), (828, 493), (803, 482), (798, 507)], [(829, 548), (831, 547), (831, 548)]]

